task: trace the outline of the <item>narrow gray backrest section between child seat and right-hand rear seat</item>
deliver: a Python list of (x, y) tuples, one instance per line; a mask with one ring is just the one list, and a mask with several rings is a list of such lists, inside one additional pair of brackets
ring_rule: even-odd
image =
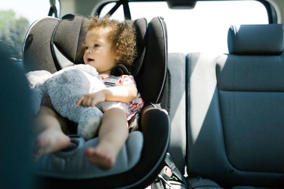
[(185, 55), (168, 53), (168, 74), (161, 107), (166, 109), (171, 120), (171, 136), (168, 152), (175, 166), (185, 173), (186, 110), (185, 110)]

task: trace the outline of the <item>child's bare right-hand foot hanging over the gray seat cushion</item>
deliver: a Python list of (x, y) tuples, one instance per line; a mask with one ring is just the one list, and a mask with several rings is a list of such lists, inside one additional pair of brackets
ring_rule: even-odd
[(96, 148), (88, 148), (86, 154), (89, 162), (98, 165), (101, 170), (111, 169), (116, 160), (116, 150), (114, 147), (103, 147), (102, 145)]

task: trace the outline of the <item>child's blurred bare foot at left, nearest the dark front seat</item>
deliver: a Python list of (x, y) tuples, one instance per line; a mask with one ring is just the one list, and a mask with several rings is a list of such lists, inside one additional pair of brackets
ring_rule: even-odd
[(70, 138), (62, 131), (56, 129), (46, 129), (39, 134), (35, 141), (34, 160), (41, 156), (62, 150), (68, 146)]

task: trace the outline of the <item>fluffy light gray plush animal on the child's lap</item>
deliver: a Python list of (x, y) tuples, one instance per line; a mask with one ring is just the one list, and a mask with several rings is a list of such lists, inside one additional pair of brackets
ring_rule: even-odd
[(76, 107), (85, 94), (105, 89), (98, 72), (90, 65), (79, 64), (54, 74), (48, 71), (31, 71), (26, 74), (32, 91), (32, 110), (36, 115), (43, 97), (49, 96), (54, 109), (63, 117), (78, 123), (78, 135), (88, 140), (99, 130), (104, 111), (112, 107), (123, 108), (120, 102), (101, 102), (95, 107)]

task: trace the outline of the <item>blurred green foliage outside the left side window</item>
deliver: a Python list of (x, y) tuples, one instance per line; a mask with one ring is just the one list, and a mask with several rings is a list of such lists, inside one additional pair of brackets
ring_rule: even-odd
[(25, 17), (16, 18), (13, 10), (0, 10), (0, 44), (9, 56), (22, 59), (22, 46), (30, 23)]

